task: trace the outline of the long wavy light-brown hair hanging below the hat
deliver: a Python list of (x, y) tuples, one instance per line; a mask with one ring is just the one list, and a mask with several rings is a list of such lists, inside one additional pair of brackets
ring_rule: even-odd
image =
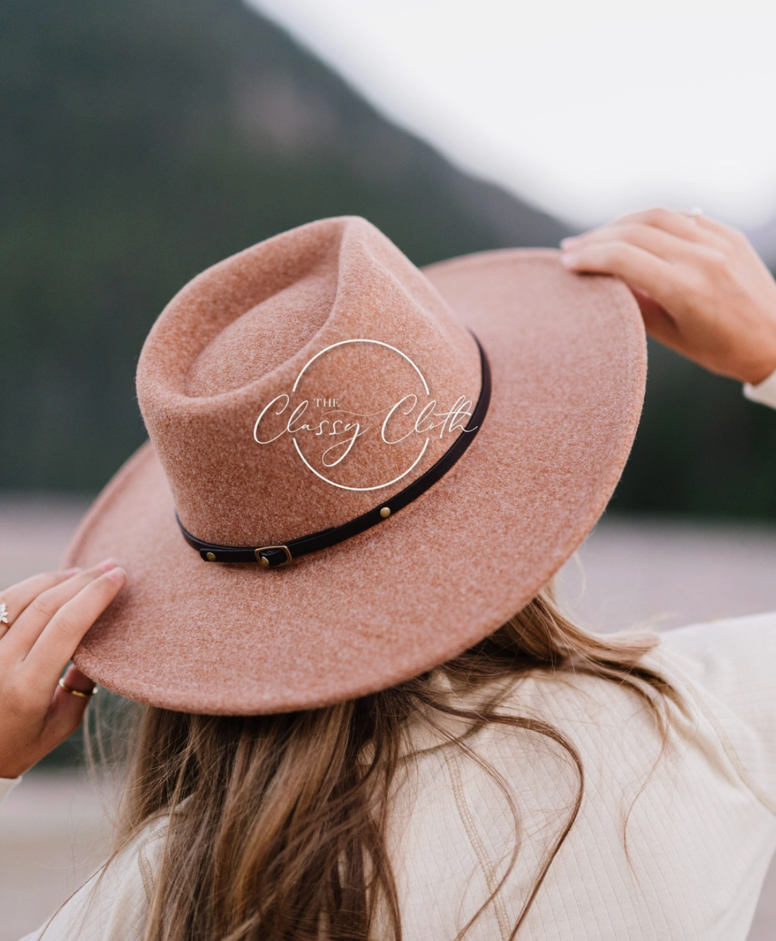
[[(641, 697), (665, 743), (666, 694), (673, 691), (641, 664), (656, 643), (651, 635), (581, 630), (545, 591), (482, 643), (382, 693), (267, 716), (145, 708), (131, 747), (116, 846), (119, 853), (154, 818), (166, 818), (144, 941), (368, 941), (378, 910), (381, 937), (401, 941), (387, 851), (388, 795), (406, 759), (406, 731), (419, 721), (442, 734), (442, 747), (464, 750), (488, 724), (528, 729), (557, 743), (576, 773), (568, 819), (536, 873), (514, 938), (574, 825), (584, 770), (574, 743), (559, 729), (503, 714), (499, 703), (513, 681), (531, 671), (585, 672)], [(445, 732), (441, 720), (450, 716), (466, 730)], [(519, 820), (507, 797), (515, 819), (511, 869)]]

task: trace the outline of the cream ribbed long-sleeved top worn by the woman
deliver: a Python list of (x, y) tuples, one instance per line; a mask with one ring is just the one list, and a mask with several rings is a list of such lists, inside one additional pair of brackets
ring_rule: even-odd
[[(766, 404), (776, 407), (772, 385)], [(776, 614), (670, 631), (645, 661), (687, 704), (685, 714), (673, 710), (662, 756), (654, 718), (614, 683), (536, 673), (507, 700), (515, 714), (560, 728), (586, 777), (578, 820), (518, 934), (524, 941), (747, 936), (776, 851)], [(534, 733), (491, 726), (471, 744), (509, 783), (521, 824), (515, 869), (467, 934), (495, 941), (509, 936), (577, 778)], [(55, 914), (45, 941), (140, 941), (163, 837), (164, 821), (144, 832)], [(515, 830), (492, 779), (442, 750), (407, 769), (391, 840), (404, 938), (446, 941), (499, 881)]]

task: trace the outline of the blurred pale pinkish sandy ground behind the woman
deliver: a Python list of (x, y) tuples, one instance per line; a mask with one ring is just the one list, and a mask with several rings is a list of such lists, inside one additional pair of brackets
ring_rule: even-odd
[[(56, 566), (83, 508), (0, 498), (0, 584)], [(588, 627), (670, 630), (776, 609), (774, 573), (776, 528), (610, 519), (564, 567), (560, 592)], [(10, 795), (0, 808), (0, 941), (34, 930), (99, 865), (109, 806), (80, 774), (28, 774)], [(776, 864), (750, 941), (776, 941)]]

